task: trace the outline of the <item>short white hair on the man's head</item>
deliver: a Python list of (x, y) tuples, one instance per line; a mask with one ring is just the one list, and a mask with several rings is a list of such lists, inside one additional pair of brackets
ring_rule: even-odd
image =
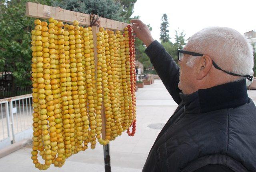
[[(209, 55), (220, 68), (235, 74), (250, 74), (253, 68), (251, 44), (232, 28), (205, 28), (191, 36), (185, 48), (188, 51)], [(187, 65), (193, 66), (197, 60), (190, 58)]]

